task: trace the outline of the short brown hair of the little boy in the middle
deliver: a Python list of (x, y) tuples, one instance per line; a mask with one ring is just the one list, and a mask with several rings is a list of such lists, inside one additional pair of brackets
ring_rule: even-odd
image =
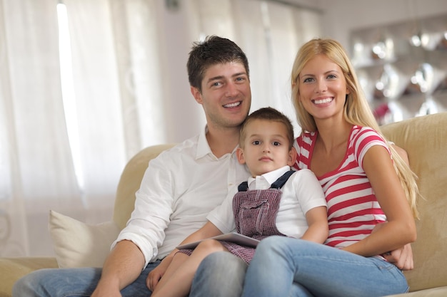
[(287, 132), (287, 140), (288, 140), (288, 149), (291, 150), (293, 146), (293, 125), (290, 119), (276, 110), (275, 108), (259, 108), (256, 111), (253, 111), (250, 115), (247, 116), (245, 121), (243, 121), (241, 126), (241, 132), (239, 133), (239, 146), (243, 147), (243, 141), (246, 139), (246, 125), (251, 123), (253, 120), (269, 120), (273, 122), (278, 122), (283, 124), (286, 127)]

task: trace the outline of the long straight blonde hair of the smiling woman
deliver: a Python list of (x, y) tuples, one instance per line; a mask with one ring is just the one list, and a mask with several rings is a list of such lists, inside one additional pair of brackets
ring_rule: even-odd
[[(359, 125), (363, 127), (371, 127), (376, 130), (383, 139), (386, 139), (381, 131), (371, 108), (368, 105), (361, 86), (358, 83), (357, 75), (354, 71), (351, 61), (346, 54), (343, 46), (338, 41), (333, 39), (312, 39), (305, 43), (298, 53), (296, 54), (295, 61), (293, 62), (293, 68), (291, 73), (292, 83), (292, 101), (296, 110), (296, 118), (298, 124), (301, 126), (303, 132), (315, 132), (317, 130), (315, 120), (313, 116), (306, 111), (299, 100), (299, 74), (303, 70), (303, 67), (313, 57), (318, 55), (324, 55), (331, 59), (334, 63), (340, 66), (343, 75), (346, 78), (346, 87), (349, 90), (349, 94), (346, 95), (346, 103), (344, 105), (344, 118), (346, 122), (351, 125)], [(418, 185), (416, 184), (416, 174), (411, 171), (407, 163), (402, 159), (400, 155), (390, 145), (391, 156), (394, 160), (394, 168), (398, 174), (403, 190), (410, 204), (413, 216), (418, 218), (418, 210), (416, 208), (416, 199), (419, 195)]]

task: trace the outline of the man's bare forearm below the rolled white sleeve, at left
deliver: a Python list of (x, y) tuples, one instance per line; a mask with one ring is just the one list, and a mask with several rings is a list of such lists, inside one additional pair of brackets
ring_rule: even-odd
[(104, 262), (101, 279), (91, 297), (119, 296), (120, 291), (139, 277), (144, 256), (132, 241), (119, 241)]

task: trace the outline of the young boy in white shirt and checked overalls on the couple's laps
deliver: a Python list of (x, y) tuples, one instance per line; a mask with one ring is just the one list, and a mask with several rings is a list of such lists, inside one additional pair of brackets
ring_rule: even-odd
[[(239, 185), (238, 192), (235, 189), (236, 194), (229, 193), (209, 214), (209, 222), (182, 244), (228, 233), (235, 226), (238, 233), (259, 240), (283, 235), (322, 244), (328, 236), (323, 190), (310, 170), (291, 171), (296, 161), (292, 145), (293, 126), (285, 115), (273, 108), (248, 115), (236, 155), (239, 163), (247, 165), (251, 177)], [(207, 239), (192, 252), (182, 250), (174, 256), (152, 296), (188, 296), (200, 262), (216, 251), (230, 251), (249, 263), (255, 249)]]

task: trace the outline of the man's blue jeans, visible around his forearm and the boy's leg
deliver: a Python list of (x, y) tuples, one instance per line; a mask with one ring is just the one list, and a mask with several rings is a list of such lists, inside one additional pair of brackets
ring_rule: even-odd
[[(239, 297), (247, 265), (228, 252), (211, 254), (194, 278), (191, 297)], [(220, 256), (219, 256), (220, 255)], [(121, 290), (123, 297), (151, 296), (146, 278), (160, 261), (150, 263), (139, 278)], [(211, 273), (211, 274), (210, 274)], [(227, 274), (229, 273), (229, 275)], [(101, 277), (101, 269), (41, 269), (27, 274), (14, 284), (13, 297), (77, 297), (91, 296)], [(228, 283), (231, 285), (228, 286)], [(214, 290), (216, 288), (216, 290)]]

